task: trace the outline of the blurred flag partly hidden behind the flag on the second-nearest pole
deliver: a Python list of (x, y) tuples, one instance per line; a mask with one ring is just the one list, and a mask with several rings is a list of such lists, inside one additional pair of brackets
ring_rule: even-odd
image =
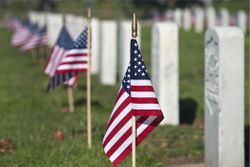
[(66, 27), (63, 26), (57, 39), (57, 42), (52, 48), (52, 52), (49, 56), (47, 66), (45, 68), (45, 74), (53, 77), (65, 53), (73, 47), (74, 41), (71, 38)]

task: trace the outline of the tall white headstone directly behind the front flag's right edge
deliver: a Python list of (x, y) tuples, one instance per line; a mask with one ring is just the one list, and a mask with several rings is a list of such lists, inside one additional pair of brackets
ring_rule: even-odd
[(162, 124), (179, 124), (178, 26), (155, 23), (152, 29), (152, 83), (164, 114)]

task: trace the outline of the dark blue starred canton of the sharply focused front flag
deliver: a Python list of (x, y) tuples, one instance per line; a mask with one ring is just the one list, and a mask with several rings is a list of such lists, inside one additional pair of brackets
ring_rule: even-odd
[(130, 43), (130, 63), (122, 81), (122, 86), (125, 91), (130, 94), (131, 79), (148, 80), (147, 69), (144, 64), (141, 51), (138, 48), (138, 43), (135, 39), (131, 39)]

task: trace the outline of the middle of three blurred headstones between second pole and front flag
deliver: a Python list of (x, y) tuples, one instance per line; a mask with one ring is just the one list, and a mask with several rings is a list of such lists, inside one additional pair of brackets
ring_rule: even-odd
[(101, 22), (101, 83), (116, 83), (117, 24), (115, 21)]

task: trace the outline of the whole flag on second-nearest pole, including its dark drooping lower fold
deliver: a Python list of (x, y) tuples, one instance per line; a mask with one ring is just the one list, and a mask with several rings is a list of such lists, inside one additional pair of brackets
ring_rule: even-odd
[[(62, 85), (65, 81), (68, 85), (74, 85), (77, 82), (77, 74), (79, 72), (86, 72), (88, 68), (88, 49), (87, 38), (88, 29), (80, 34), (74, 42), (73, 47), (65, 51), (63, 58), (55, 72), (55, 76), (51, 79), (48, 90), (53, 90), (57, 86)], [(69, 79), (69, 77), (74, 78)], [(60, 78), (60, 79), (59, 79)]]

